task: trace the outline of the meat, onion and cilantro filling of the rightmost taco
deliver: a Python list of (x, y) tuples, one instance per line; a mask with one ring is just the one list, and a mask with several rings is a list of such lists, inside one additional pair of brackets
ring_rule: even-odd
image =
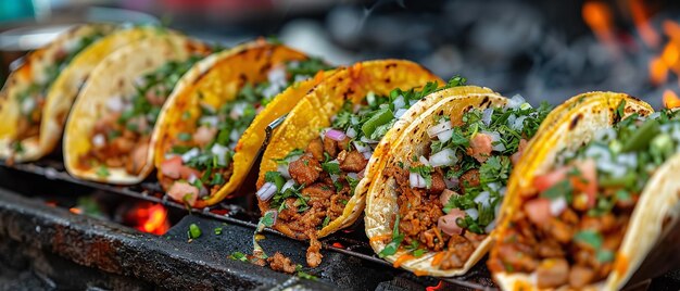
[(646, 181), (677, 152), (680, 119), (666, 111), (647, 119), (633, 114), (576, 152), (558, 153), (521, 193), (522, 206), (509, 217), (489, 267), (536, 274), (539, 288), (580, 289), (604, 280)]

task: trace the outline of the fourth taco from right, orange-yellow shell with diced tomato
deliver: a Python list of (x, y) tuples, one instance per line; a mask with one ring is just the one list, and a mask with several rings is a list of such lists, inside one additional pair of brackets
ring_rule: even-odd
[(152, 138), (158, 177), (169, 198), (204, 207), (235, 195), (267, 125), (290, 111), (326, 68), (319, 59), (264, 40), (194, 65), (164, 105)]

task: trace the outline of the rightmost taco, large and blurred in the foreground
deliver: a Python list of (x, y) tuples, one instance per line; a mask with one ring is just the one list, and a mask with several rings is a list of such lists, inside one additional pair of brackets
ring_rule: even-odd
[(678, 217), (680, 119), (612, 92), (556, 111), (509, 179), (489, 269), (504, 290), (620, 290)]

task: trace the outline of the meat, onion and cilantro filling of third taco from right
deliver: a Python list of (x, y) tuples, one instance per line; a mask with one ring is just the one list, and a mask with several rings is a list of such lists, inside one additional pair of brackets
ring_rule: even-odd
[(345, 101), (331, 117), (331, 127), (323, 128), (305, 149), (276, 160), (278, 169), (265, 174), (257, 198), (278, 212), (277, 224), (312, 240), (310, 266), (317, 266), (322, 257), (314, 246), (319, 245), (316, 231), (342, 215), (380, 139), (418, 100), (464, 81), (454, 78), (441, 88), (428, 83), (421, 90), (394, 89), (389, 97), (368, 92), (357, 104)]

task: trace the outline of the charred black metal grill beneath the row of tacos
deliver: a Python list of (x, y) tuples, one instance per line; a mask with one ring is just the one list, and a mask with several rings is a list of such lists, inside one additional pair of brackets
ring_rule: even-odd
[[(3, 169), (0, 169), (3, 172), (0, 173), (2, 174), (0, 177), (5, 179), (3, 181), (5, 185), (20, 184), (25, 188), (51, 180), (51, 182), (61, 185), (99, 190), (110, 193), (112, 197), (124, 195), (136, 200), (161, 203), (185, 214), (190, 211), (193, 215), (185, 215), (166, 235), (156, 237), (111, 222), (73, 215), (65, 210), (49, 207), (43, 203), (36, 203), (0, 189), (0, 201), (3, 202), (0, 203), (0, 253), (8, 253), (7, 250), (12, 249), (13, 245), (3, 238), (11, 238), (21, 243), (39, 246), (39, 249), (51, 249), (53, 253), (71, 258), (79, 265), (96, 267), (106, 273), (113, 273), (115, 276), (124, 276), (123, 279), (115, 277), (110, 280), (113, 280), (115, 286), (126, 287), (125, 289), (129, 289), (127, 288), (129, 286), (135, 286), (135, 289), (147, 289), (148, 284), (151, 283), (165, 288), (269, 289), (300, 284), (300, 287), (314, 290), (337, 287), (365, 290), (375, 289), (376, 286), (377, 290), (413, 290), (437, 286), (439, 282), (437, 278), (415, 277), (411, 273), (394, 269), (391, 264), (375, 255), (366, 243), (367, 238), (364, 235), (361, 219), (349, 229), (322, 239), (323, 249), (326, 250), (323, 253), (325, 256), (323, 264), (314, 269), (304, 268), (305, 271), (318, 276), (322, 280), (301, 280), (295, 276), (275, 273), (268, 268), (227, 258), (235, 251), (252, 252), (251, 240), (259, 214), (255, 213), (254, 201), (250, 201), (248, 198), (227, 200), (216, 206), (202, 210), (190, 210), (182, 204), (165, 199), (153, 175), (151, 175), (152, 178), (138, 186), (111, 186), (79, 180), (70, 176), (64, 170), (59, 157), (48, 157), (36, 163), (11, 166), (0, 165), (3, 166)], [(10, 188), (12, 187), (10, 186)], [(250, 197), (253, 199), (253, 195)], [(55, 214), (56, 211), (63, 213)], [(68, 217), (64, 217), (64, 215)], [(188, 243), (187, 229), (190, 224), (199, 225), (203, 235)], [(217, 227), (223, 228), (221, 236), (214, 235), (213, 230)], [(46, 233), (40, 233), (40, 228), (49, 229), (47, 232), (49, 235), (46, 237)], [(34, 232), (37, 232), (38, 236), (32, 237), (30, 233)], [(273, 229), (265, 229), (264, 233), (266, 239), (260, 243), (265, 252), (273, 254), (275, 251), (280, 251), (293, 262), (304, 265), (305, 242), (291, 240)], [(92, 250), (83, 249), (84, 245), (96, 248), (95, 255), (91, 253)], [(26, 252), (35, 254), (35, 250)], [(138, 264), (139, 262), (143, 263)], [(645, 263), (648, 264), (650, 262)], [(658, 276), (676, 265), (675, 261), (667, 263), (664, 268), (654, 268), (652, 273), (646, 271), (646, 278)], [(0, 265), (0, 270), (1, 267), (3, 266)], [(187, 269), (191, 271), (186, 271)], [(166, 278), (167, 274), (181, 276)], [(55, 276), (65, 275), (56, 274)], [(146, 282), (129, 282), (125, 276), (141, 278)], [(468, 275), (442, 280), (445, 281), (444, 287), (462, 290), (495, 289), (483, 263), (477, 264)], [(1, 278), (0, 282), (2, 282)], [(332, 284), (327, 284), (327, 282)], [(643, 281), (642, 289), (645, 288), (678, 290), (680, 289), (678, 271), (668, 273), (652, 282)], [(640, 289), (640, 284), (633, 286), (632, 289)]]

